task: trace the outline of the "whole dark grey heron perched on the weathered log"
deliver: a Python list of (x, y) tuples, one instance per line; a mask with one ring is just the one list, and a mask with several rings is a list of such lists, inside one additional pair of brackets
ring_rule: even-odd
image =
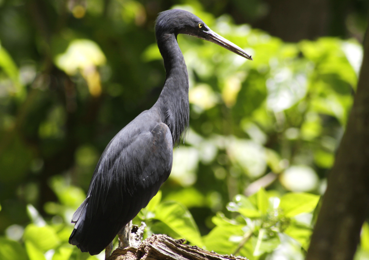
[[(73, 215), (69, 243), (99, 254), (144, 208), (172, 170), (173, 146), (189, 125), (188, 75), (178, 34), (214, 42), (246, 59), (251, 56), (216, 34), (197, 16), (167, 10), (156, 19), (155, 35), (166, 79), (158, 101), (127, 124), (107, 145), (93, 173), (87, 198)], [(120, 237), (121, 239), (121, 237)]]

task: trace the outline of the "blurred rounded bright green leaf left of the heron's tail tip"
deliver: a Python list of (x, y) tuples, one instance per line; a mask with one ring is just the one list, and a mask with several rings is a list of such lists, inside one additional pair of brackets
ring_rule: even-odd
[(32, 246), (41, 251), (52, 249), (60, 243), (59, 237), (51, 226), (38, 227), (30, 224), (25, 228), (23, 237), (26, 242), (31, 242)]

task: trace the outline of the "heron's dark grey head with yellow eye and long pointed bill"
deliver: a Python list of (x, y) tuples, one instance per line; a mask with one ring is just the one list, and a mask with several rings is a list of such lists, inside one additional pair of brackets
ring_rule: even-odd
[(184, 10), (167, 10), (156, 18), (156, 38), (162, 34), (188, 34), (214, 42), (246, 59), (252, 60), (243, 49), (212, 31), (199, 17)]

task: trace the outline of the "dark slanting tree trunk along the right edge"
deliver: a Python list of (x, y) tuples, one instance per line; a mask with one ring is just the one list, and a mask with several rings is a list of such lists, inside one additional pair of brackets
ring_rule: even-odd
[(369, 205), (369, 30), (354, 105), (311, 238), (307, 260), (351, 260)]

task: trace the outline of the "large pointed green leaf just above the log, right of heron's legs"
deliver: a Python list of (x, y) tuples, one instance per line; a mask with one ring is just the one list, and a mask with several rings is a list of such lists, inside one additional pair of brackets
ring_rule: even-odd
[(163, 202), (155, 208), (155, 219), (166, 223), (176, 233), (199, 247), (203, 246), (199, 229), (191, 213), (177, 202)]

